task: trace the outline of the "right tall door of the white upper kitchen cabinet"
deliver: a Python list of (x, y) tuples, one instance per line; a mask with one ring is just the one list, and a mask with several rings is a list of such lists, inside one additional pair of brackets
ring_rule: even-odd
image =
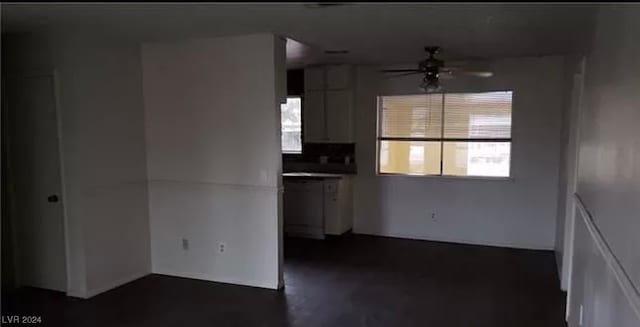
[(353, 142), (353, 102), (350, 90), (327, 91), (327, 137), (332, 143)]

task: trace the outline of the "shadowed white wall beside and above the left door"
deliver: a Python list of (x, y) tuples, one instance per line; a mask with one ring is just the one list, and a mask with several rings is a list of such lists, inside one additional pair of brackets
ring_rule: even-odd
[(89, 297), (148, 274), (139, 46), (58, 30), (7, 48), (15, 73), (56, 72), (67, 293)]

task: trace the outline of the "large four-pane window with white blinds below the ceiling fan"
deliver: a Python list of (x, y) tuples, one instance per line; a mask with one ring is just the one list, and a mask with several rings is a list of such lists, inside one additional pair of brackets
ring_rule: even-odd
[(511, 91), (378, 97), (378, 173), (509, 177)]

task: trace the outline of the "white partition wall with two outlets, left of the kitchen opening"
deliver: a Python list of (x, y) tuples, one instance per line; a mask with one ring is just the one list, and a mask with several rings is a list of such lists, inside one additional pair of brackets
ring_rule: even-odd
[(284, 46), (269, 34), (143, 45), (154, 273), (281, 284)]

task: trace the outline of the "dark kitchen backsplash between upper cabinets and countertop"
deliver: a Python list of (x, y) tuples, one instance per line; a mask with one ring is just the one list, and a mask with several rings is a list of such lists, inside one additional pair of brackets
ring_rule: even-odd
[(283, 171), (356, 173), (354, 143), (304, 143), (301, 155), (283, 155)]

